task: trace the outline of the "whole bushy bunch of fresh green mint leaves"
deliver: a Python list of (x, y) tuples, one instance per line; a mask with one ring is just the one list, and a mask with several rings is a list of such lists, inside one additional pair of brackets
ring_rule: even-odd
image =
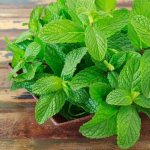
[(139, 112), (150, 116), (150, 1), (132, 10), (116, 0), (58, 0), (36, 7), (29, 30), (13, 42), (12, 89), (39, 97), (35, 118), (87, 114), (88, 138), (117, 135), (121, 148), (140, 137)]

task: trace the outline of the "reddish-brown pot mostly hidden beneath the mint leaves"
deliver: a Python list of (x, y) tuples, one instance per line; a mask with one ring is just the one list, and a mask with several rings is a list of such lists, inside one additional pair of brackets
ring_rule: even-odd
[[(8, 64), (8, 69), (9, 69), (10, 71), (12, 71), (11, 63)], [(19, 72), (18, 72), (18, 74), (19, 74)], [(33, 95), (32, 93), (31, 93), (31, 95), (33, 96), (33, 98), (34, 98), (36, 101), (38, 101), (38, 98), (37, 98), (35, 95)], [(68, 121), (68, 120), (66, 120), (65, 118), (63, 118), (61, 115), (57, 114), (57, 115), (55, 115), (55, 116), (53, 116), (53, 117), (51, 118), (51, 121), (52, 121), (52, 123), (53, 123), (55, 126), (57, 126), (57, 127), (61, 127), (61, 128), (63, 128), (63, 129), (74, 129), (74, 130), (78, 130), (79, 127), (80, 127), (83, 123), (89, 121), (91, 118), (92, 118), (92, 115), (88, 115), (88, 116), (85, 116), (85, 117), (82, 117), (82, 118), (78, 118), (78, 119), (74, 119), (74, 120), (69, 120), (69, 121)]]

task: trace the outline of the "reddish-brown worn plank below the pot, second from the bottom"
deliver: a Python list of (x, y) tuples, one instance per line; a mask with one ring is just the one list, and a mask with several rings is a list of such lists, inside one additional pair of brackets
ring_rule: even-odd
[(49, 138), (49, 139), (78, 139), (83, 138), (73, 126), (67, 130), (56, 127), (48, 120), (38, 125), (34, 117), (34, 109), (28, 106), (22, 109), (0, 109), (0, 139), (3, 138)]

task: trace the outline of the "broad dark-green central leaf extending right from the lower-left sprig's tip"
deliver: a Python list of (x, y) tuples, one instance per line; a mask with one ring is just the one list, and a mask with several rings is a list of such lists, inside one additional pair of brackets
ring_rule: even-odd
[(77, 73), (71, 81), (71, 86), (73, 89), (77, 90), (88, 87), (90, 84), (98, 81), (104, 81), (104, 77), (98, 68), (92, 66)]

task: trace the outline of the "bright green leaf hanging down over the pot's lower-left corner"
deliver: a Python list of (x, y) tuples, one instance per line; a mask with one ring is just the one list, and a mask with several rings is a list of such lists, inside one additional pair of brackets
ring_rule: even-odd
[(57, 91), (40, 97), (35, 107), (35, 118), (38, 124), (43, 124), (57, 114), (65, 103), (65, 93)]

